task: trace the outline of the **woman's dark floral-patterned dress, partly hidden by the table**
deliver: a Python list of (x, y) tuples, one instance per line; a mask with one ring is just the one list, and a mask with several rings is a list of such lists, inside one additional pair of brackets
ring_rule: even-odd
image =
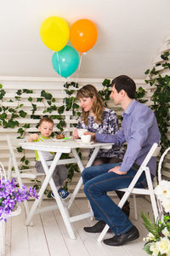
[[(88, 125), (85, 125), (85, 123), (82, 121), (82, 118), (80, 117), (77, 129), (88, 129), (88, 131), (91, 132), (99, 132), (99, 133), (105, 133), (105, 134), (115, 134), (116, 131), (118, 131), (118, 120), (117, 116), (114, 110), (110, 108), (105, 108), (103, 113), (103, 122), (102, 124), (97, 124), (94, 121), (94, 116), (88, 115)], [(93, 153), (94, 149), (90, 150), (89, 157)], [(116, 157), (122, 159), (124, 156), (125, 150), (124, 148), (119, 148), (115, 145), (112, 146), (111, 149), (100, 149), (99, 154), (96, 156), (99, 157)]]

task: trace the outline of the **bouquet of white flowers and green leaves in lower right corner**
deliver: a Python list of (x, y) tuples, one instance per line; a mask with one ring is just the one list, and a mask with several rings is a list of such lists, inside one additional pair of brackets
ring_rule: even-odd
[(163, 207), (162, 221), (157, 223), (150, 221), (150, 215), (142, 212), (143, 224), (150, 232), (144, 237), (144, 251), (154, 256), (169, 256), (170, 255), (170, 182), (161, 181), (154, 190), (157, 199)]

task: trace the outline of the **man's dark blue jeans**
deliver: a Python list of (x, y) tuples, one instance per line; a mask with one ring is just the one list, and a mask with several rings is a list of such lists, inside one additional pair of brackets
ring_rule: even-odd
[[(116, 236), (126, 233), (133, 227), (133, 224), (106, 192), (127, 188), (137, 172), (133, 167), (125, 175), (108, 172), (111, 168), (120, 165), (121, 163), (113, 163), (91, 166), (82, 172), (84, 192), (90, 201), (95, 219), (103, 219)], [(135, 187), (144, 188), (145, 184), (146, 179), (143, 172)]]

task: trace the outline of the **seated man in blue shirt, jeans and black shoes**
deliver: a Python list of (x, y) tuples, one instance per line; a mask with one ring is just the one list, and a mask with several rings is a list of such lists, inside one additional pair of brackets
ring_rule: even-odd
[[(150, 108), (134, 100), (135, 91), (136, 84), (133, 79), (125, 75), (113, 79), (111, 99), (124, 110), (122, 128), (115, 135), (87, 132), (100, 143), (115, 143), (119, 146), (127, 143), (122, 163), (91, 166), (82, 172), (84, 192), (90, 201), (95, 219), (99, 220), (97, 224), (85, 227), (84, 230), (97, 233), (108, 224), (115, 234), (104, 240), (110, 246), (120, 246), (137, 239), (139, 230), (106, 192), (127, 188), (152, 144), (159, 143), (161, 138), (155, 114)], [(153, 178), (156, 175), (155, 157), (150, 159), (148, 166)], [(144, 188), (144, 185), (147, 183), (143, 172), (136, 187)]]

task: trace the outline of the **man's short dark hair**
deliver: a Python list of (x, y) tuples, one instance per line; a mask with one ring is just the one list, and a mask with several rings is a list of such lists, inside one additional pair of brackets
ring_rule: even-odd
[(111, 86), (113, 85), (115, 86), (117, 92), (125, 90), (129, 98), (134, 98), (136, 92), (136, 84), (134, 83), (133, 79), (125, 75), (121, 75), (112, 80)]

